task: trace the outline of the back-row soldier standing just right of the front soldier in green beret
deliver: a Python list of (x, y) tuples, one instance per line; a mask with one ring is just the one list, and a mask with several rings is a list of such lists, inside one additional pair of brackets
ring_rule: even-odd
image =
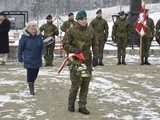
[(103, 50), (105, 42), (108, 38), (108, 23), (105, 19), (102, 18), (102, 10), (99, 9), (96, 12), (96, 18), (91, 21), (90, 26), (94, 29), (96, 36), (95, 41), (93, 42), (93, 66), (104, 66), (103, 64)]

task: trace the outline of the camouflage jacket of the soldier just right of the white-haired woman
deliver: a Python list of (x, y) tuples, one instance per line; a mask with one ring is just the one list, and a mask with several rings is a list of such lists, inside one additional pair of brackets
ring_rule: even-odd
[(51, 23), (46, 23), (40, 27), (40, 32), (44, 32), (44, 37), (55, 37), (55, 35), (59, 34), (58, 28)]

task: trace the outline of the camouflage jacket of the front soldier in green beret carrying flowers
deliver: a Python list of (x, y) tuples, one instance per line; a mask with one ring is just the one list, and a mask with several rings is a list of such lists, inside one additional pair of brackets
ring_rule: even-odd
[(80, 50), (84, 53), (86, 61), (91, 62), (91, 46), (94, 39), (91, 27), (82, 28), (78, 23), (66, 32), (63, 38), (63, 46), (67, 53), (75, 53)]

